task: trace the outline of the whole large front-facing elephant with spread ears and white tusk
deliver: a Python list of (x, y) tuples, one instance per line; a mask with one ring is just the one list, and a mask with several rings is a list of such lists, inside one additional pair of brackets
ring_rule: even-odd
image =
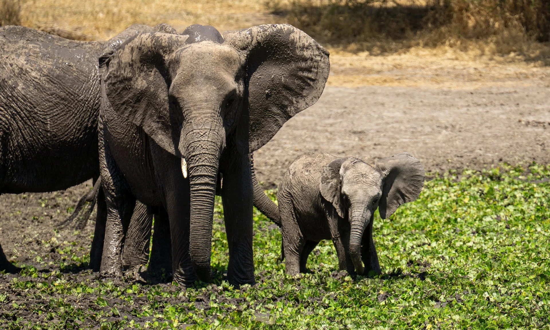
[(254, 283), (249, 154), (317, 101), (328, 52), (290, 25), (228, 31), (223, 43), (188, 39), (138, 34), (100, 58), (101, 273), (122, 274), (124, 223), (137, 199), (169, 223), (174, 280), (209, 281), (221, 173), (228, 281)]

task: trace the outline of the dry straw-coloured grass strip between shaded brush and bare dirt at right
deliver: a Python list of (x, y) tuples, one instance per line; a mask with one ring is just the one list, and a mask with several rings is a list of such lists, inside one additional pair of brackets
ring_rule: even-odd
[(331, 50), (327, 85), (356, 87), (414, 86), (475, 89), (542, 84), (550, 87), (550, 67), (514, 55), (476, 56), (454, 48), (414, 47), (406, 52), (371, 56), (368, 52)]

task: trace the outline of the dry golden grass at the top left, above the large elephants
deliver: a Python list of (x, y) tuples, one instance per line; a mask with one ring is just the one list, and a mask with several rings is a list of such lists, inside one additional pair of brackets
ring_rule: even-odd
[(219, 30), (272, 23), (261, 1), (252, 0), (22, 0), (21, 23), (51, 31), (74, 31), (106, 40), (134, 23), (168, 23), (177, 30), (208, 24)]

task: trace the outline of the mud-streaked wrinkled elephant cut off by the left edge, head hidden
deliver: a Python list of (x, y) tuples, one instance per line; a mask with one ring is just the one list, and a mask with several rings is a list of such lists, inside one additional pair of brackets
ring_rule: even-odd
[[(67, 189), (90, 178), (96, 181), (97, 58), (106, 46), (116, 47), (138, 30), (165, 31), (166, 27), (133, 25), (108, 42), (67, 40), (21, 26), (0, 27), (0, 193), (40, 193)], [(106, 219), (105, 197), (101, 189), (97, 192), (90, 256), (96, 270)], [(138, 219), (151, 217), (142, 205), (136, 211)], [(135, 254), (125, 250), (127, 256)], [(18, 271), (1, 248), (0, 270)]]

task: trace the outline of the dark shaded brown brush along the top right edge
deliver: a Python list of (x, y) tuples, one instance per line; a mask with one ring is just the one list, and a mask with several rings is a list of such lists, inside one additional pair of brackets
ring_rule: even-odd
[(348, 52), (454, 48), (478, 56), (550, 58), (546, 0), (270, 0), (282, 20)]

